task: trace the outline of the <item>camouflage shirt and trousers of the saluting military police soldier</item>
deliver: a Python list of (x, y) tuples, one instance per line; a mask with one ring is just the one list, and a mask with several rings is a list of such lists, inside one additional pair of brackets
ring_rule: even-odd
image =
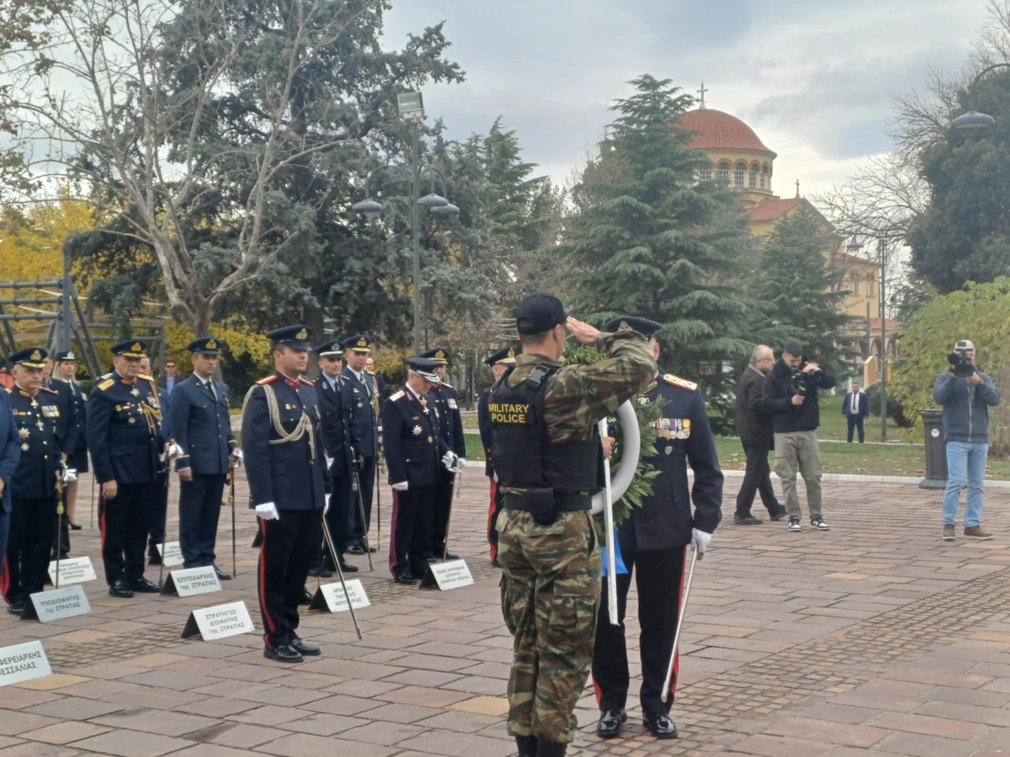
[[(553, 373), (543, 395), (551, 443), (591, 439), (596, 423), (652, 381), (655, 361), (644, 338), (630, 329), (601, 333), (607, 358)], [(544, 355), (522, 354), (506, 377), (524, 382)], [(524, 490), (505, 488), (505, 494)], [(531, 513), (505, 509), (496, 524), (502, 564), (502, 614), (515, 637), (509, 675), (508, 732), (548, 742), (572, 741), (573, 714), (593, 658), (600, 596), (600, 554), (592, 517), (561, 512), (548, 526)]]

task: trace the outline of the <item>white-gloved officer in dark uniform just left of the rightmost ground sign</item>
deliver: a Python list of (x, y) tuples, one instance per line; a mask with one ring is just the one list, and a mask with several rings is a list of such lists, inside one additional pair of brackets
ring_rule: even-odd
[[(441, 382), (437, 360), (407, 358), (407, 384), (382, 407), (382, 426), (393, 521), (389, 569), (397, 583), (416, 583), (431, 553), (431, 518), (437, 496), (437, 471), (458, 458), (438, 437), (432, 390)], [(438, 461), (441, 458), (442, 464)]]

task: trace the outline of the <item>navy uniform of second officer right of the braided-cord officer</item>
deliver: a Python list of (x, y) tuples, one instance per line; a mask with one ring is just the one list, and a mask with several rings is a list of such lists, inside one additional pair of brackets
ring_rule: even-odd
[[(375, 490), (376, 454), (379, 449), (379, 418), (376, 384), (374, 376), (363, 372), (359, 381), (355, 371), (344, 368), (340, 373), (340, 398), (343, 401), (343, 412), (347, 424), (347, 436), (355, 456), (358, 458), (358, 478), (361, 483), (362, 503), (365, 506), (365, 522), (362, 523), (361, 508), (357, 495), (350, 493), (349, 522), (347, 544), (365, 548), (365, 535), (372, 524), (372, 496)], [(374, 401), (373, 401), (374, 399)], [(350, 479), (347, 488), (349, 490)]]

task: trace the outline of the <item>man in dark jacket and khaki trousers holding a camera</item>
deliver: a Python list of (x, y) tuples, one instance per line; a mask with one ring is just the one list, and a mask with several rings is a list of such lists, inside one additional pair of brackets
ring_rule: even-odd
[(803, 347), (786, 342), (782, 357), (765, 376), (762, 404), (772, 416), (775, 431), (775, 472), (782, 479), (782, 493), (789, 513), (789, 530), (802, 531), (800, 500), (796, 493), (799, 470), (807, 485), (810, 525), (818, 531), (830, 526), (821, 517), (820, 478), (823, 472), (817, 447), (820, 407), (817, 390), (831, 389), (834, 376), (817, 363), (803, 357)]

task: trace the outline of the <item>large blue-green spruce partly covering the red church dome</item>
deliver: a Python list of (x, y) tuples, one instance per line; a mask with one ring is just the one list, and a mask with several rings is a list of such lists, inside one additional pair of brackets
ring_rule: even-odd
[(667, 360), (709, 385), (720, 402), (724, 360), (748, 354), (749, 306), (740, 280), (751, 237), (724, 183), (696, 182), (690, 134), (671, 124), (692, 104), (670, 80), (641, 76), (616, 101), (611, 135), (600, 145), (601, 181), (576, 188), (582, 210), (567, 219), (553, 251), (564, 263), (573, 312), (602, 323), (620, 315), (663, 324)]

